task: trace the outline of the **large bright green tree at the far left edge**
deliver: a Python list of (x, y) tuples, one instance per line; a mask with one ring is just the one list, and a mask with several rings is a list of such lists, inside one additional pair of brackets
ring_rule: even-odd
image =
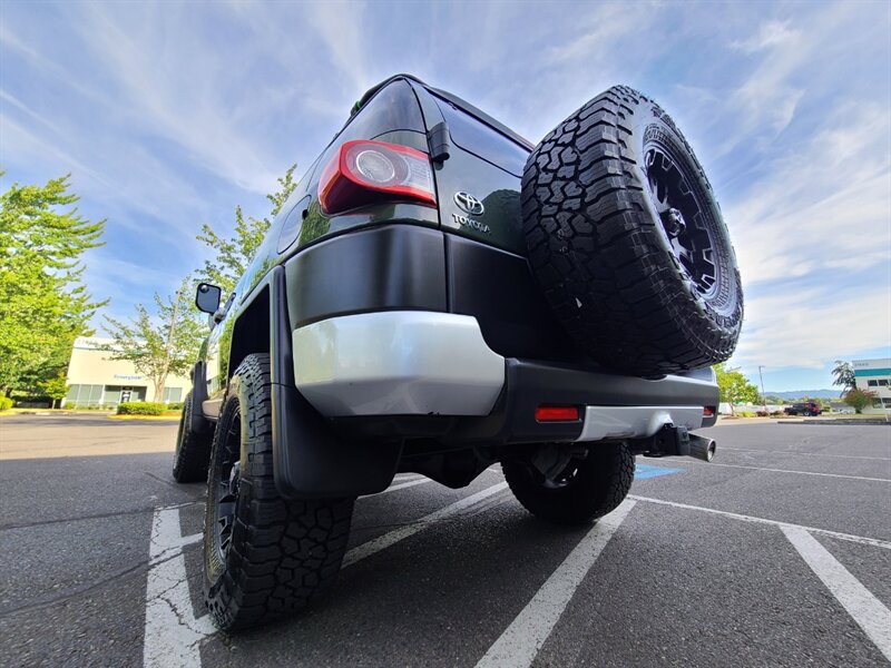
[(102, 245), (105, 220), (78, 214), (69, 178), (13, 183), (0, 195), (0, 393), (57, 375), (107, 303), (89, 295), (80, 264)]

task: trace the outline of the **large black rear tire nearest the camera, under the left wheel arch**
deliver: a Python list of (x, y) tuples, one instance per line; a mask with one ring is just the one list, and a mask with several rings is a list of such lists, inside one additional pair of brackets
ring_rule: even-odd
[[(218, 502), (228, 498), (222, 482), (233, 480), (233, 460), (241, 474), (229, 494), (234, 513), (224, 549)], [(204, 592), (214, 622), (224, 631), (244, 629), (298, 610), (327, 589), (346, 550), (353, 501), (278, 495), (270, 358), (245, 357), (223, 403), (207, 478)]]

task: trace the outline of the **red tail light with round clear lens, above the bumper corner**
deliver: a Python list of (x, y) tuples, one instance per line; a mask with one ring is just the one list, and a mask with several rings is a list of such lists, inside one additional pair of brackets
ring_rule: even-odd
[(437, 206), (430, 157), (395, 144), (347, 141), (322, 170), (319, 200), (329, 215), (393, 200)]

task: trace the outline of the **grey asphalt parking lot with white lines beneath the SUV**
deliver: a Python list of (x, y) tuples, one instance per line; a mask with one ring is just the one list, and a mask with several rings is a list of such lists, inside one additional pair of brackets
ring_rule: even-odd
[(0, 420), (0, 666), (877, 666), (891, 660), (891, 429), (727, 424), (712, 464), (638, 459), (594, 528), (497, 468), (359, 500), (339, 583), (215, 633), (176, 424)]

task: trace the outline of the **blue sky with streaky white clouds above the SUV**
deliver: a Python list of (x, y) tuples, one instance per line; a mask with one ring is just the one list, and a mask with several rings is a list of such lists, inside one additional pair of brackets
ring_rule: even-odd
[(614, 84), (705, 165), (743, 272), (731, 364), (767, 390), (891, 356), (891, 3), (0, 2), (1, 186), (67, 171), (94, 295), (127, 315), (264, 216), (369, 87), (400, 71), (538, 141)]

